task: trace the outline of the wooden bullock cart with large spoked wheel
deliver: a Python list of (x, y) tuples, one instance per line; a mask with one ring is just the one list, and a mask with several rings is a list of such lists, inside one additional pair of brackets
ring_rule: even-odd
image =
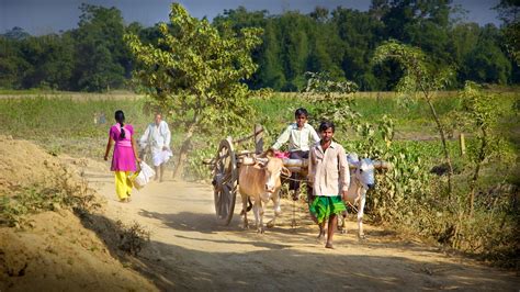
[[(255, 150), (236, 150), (246, 142), (253, 139)], [(212, 159), (204, 159), (203, 164), (212, 169), (212, 184), (217, 222), (229, 225), (235, 212), (235, 202), (238, 191), (238, 173), (241, 165), (253, 165), (263, 153), (263, 128), (255, 125), (253, 133), (247, 137), (233, 139), (227, 137), (218, 144), (217, 153)], [(292, 172), (307, 170), (307, 159), (283, 158), (284, 166)]]

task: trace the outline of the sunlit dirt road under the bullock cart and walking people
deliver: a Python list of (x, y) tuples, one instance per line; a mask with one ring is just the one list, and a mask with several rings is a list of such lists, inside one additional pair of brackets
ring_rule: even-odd
[[(104, 168), (104, 169), (108, 169)], [(359, 242), (355, 224), (337, 234), (336, 249), (325, 249), (305, 205), (295, 212), (283, 201), (279, 225), (259, 235), (240, 228), (237, 204), (229, 226), (215, 222), (211, 186), (166, 181), (118, 203), (112, 173), (87, 170), (86, 177), (109, 200), (108, 216), (136, 221), (151, 232), (150, 245), (133, 263), (161, 290), (498, 290), (518, 291), (520, 279), (436, 247), (366, 226)], [(268, 205), (265, 216), (272, 215)], [(252, 215), (250, 216), (252, 218)]]

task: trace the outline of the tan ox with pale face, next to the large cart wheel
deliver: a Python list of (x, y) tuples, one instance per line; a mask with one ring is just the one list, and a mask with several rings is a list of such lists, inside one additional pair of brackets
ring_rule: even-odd
[(274, 217), (268, 222), (268, 227), (274, 226), (276, 216), (281, 214), (280, 209), (280, 175), (290, 177), (291, 171), (283, 166), (280, 158), (272, 157), (272, 153), (268, 151), (265, 158), (257, 158), (252, 166), (241, 165), (238, 175), (238, 191), (242, 199), (244, 227), (248, 228), (247, 221), (247, 202), (252, 201), (252, 210), (255, 213), (255, 223), (258, 233), (263, 233), (263, 207), (262, 202), (268, 203), (269, 200), (274, 204)]

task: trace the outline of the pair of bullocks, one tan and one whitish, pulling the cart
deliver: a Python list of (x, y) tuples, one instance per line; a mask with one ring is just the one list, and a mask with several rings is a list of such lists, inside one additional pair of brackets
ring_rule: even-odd
[[(366, 191), (374, 188), (374, 169), (387, 168), (383, 161), (373, 161), (369, 158), (359, 159), (358, 155), (349, 154), (347, 160), (350, 166), (350, 187), (348, 191), (348, 202), (358, 205), (358, 234), (363, 237), (363, 211), (366, 202)], [(291, 168), (293, 170), (297, 168)], [(281, 175), (291, 176), (291, 170), (284, 166), (284, 160), (273, 157), (270, 150), (261, 158), (257, 158), (255, 165), (242, 164), (238, 176), (238, 191), (242, 199), (244, 227), (248, 228), (247, 203), (252, 201), (255, 223), (258, 233), (263, 233), (263, 207), (270, 200), (273, 201), (274, 217), (268, 222), (268, 227), (273, 227), (276, 216), (281, 214), (280, 189)], [(344, 217), (341, 218), (341, 231), (344, 233)]]

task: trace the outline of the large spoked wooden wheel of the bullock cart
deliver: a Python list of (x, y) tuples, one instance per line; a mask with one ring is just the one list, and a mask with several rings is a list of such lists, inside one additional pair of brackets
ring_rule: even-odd
[(237, 161), (231, 138), (221, 141), (215, 158), (213, 177), (214, 201), (217, 222), (229, 225), (237, 199)]

